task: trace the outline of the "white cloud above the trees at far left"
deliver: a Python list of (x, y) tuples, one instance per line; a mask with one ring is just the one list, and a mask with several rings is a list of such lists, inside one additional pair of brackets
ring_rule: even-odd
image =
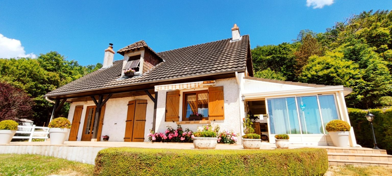
[(26, 54), (24, 47), (20, 40), (4, 37), (0, 34), (0, 58), (13, 58), (13, 57), (31, 57), (35, 58), (33, 53)]

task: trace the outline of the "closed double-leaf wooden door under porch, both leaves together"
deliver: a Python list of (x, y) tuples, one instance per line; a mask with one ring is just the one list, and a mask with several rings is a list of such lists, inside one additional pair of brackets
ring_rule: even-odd
[(143, 142), (146, 122), (147, 100), (128, 102), (127, 119), (125, 120), (124, 142)]

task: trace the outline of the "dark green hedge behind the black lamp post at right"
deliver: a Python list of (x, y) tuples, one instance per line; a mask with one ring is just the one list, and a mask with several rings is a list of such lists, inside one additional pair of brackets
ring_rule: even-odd
[(366, 120), (367, 112), (374, 114), (373, 126), (378, 147), (392, 153), (392, 108), (360, 110), (348, 108), (351, 126), (354, 128), (357, 143), (362, 147), (373, 148), (372, 129)]

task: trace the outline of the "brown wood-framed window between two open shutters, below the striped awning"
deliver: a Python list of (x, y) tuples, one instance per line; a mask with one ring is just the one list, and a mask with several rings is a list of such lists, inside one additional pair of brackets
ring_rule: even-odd
[(194, 113), (201, 114), (202, 120), (208, 120), (208, 90), (185, 92), (183, 97), (183, 121), (189, 120)]

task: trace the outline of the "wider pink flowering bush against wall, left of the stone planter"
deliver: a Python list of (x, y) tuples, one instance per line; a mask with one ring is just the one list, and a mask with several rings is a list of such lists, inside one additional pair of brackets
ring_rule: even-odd
[(189, 128), (183, 130), (181, 125), (177, 125), (177, 129), (167, 126), (164, 133), (155, 133), (150, 131), (147, 135), (151, 142), (193, 142), (193, 132)]

